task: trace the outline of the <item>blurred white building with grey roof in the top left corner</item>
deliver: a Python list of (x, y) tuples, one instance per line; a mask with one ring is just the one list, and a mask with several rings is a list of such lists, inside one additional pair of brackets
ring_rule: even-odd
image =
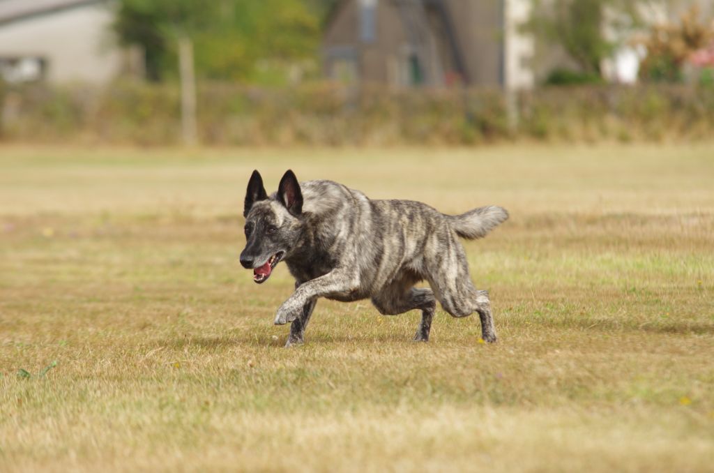
[(0, 77), (102, 84), (127, 64), (111, 0), (0, 0)]

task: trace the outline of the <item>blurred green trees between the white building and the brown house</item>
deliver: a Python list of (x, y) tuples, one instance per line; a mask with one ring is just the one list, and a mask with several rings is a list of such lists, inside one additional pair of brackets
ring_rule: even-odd
[(176, 36), (193, 40), (198, 76), (249, 81), (263, 59), (314, 56), (319, 19), (306, 0), (121, 0), (114, 29), (146, 52), (147, 75), (176, 70)]

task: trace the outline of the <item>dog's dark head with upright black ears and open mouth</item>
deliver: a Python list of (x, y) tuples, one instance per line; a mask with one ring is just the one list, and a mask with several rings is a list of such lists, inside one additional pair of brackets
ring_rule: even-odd
[(253, 269), (253, 281), (266, 282), (276, 265), (288, 257), (300, 236), (303, 194), (293, 171), (280, 180), (276, 194), (268, 197), (263, 178), (253, 171), (248, 181), (246, 204), (246, 248), (241, 264)]

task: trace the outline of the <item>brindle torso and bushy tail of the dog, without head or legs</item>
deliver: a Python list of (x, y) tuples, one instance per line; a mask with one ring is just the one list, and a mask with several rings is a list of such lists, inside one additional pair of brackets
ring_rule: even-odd
[[(440, 267), (466, 265), (456, 235), (481, 238), (508, 218), (505, 209), (497, 206), (451, 216), (418, 201), (371, 200), (361, 191), (333, 181), (305, 181), (301, 189), (311, 240), (319, 243), (317, 248), (306, 249), (301, 262), (313, 266), (316, 260), (332, 263), (316, 275), (326, 274), (338, 264), (356, 267), (361, 275), (359, 291), (336, 294), (339, 300), (371, 297), (403, 272), (423, 280)], [(322, 252), (325, 257), (316, 258)]]

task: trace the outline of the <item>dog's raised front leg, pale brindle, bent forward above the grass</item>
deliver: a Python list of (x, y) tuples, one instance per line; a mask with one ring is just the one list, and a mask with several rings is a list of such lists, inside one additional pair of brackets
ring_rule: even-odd
[(358, 287), (358, 282), (357, 274), (333, 269), (333, 271), (324, 276), (301, 284), (278, 309), (275, 324), (284, 325), (288, 322), (293, 322), (293, 320), (301, 316), (303, 307), (308, 302), (333, 292), (350, 292)]

